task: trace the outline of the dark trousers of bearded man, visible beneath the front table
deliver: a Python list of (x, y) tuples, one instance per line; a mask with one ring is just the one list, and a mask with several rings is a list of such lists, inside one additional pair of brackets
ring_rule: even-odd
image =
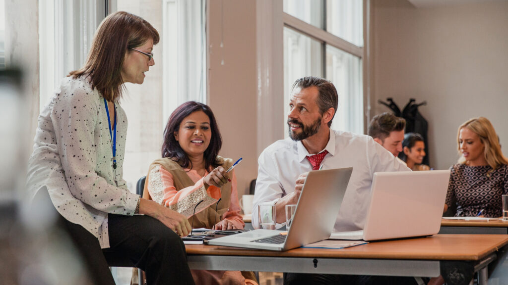
[(342, 275), (342, 274), (305, 274), (284, 273), (284, 285), (412, 285), (417, 284), (413, 277)]

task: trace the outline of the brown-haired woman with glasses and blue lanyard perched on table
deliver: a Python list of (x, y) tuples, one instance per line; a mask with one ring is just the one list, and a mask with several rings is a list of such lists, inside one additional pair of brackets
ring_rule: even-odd
[(185, 216), (132, 194), (122, 177), (127, 120), (119, 100), (124, 83), (143, 83), (158, 42), (144, 19), (109, 15), (85, 65), (39, 115), (29, 193), (51, 200), (96, 284), (114, 284), (108, 266), (141, 268), (148, 284), (194, 284), (180, 238), (190, 232)]

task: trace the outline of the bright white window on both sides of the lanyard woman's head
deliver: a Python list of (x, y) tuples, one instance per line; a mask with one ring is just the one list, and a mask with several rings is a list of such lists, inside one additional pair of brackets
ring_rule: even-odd
[[(160, 157), (162, 134), (171, 112), (187, 100), (206, 103), (204, 3), (205, 0), (39, 2), (41, 110), (62, 78), (84, 65), (93, 34), (107, 14), (107, 5), (112, 4), (112, 11), (143, 17), (161, 35), (161, 42), (153, 50), (155, 65), (150, 67), (145, 82), (127, 83), (127, 92), (120, 102), (129, 119), (123, 177), (131, 192), (136, 192), (136, 183), (146, 175), (148, 165)], [(0, 38), (0, 57), (2, 42)]]

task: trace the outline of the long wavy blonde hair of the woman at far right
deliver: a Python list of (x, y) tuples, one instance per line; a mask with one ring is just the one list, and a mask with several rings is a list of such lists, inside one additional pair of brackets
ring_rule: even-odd
[[(485, 117), (472, 118), (467, 120), (467, 122), (463, 123), (457, 132), (457, 144), (458, 150), (460, 153), (460, 130), (462, 128), (467, 128), (468, 130), (474, 132), (480, 137), (484, 145), (483, 155), (485, 156), (485, 160), (492, 167), (492, 169), (496, 169), (501, 164), (508, 164), (508, 159), (503, 156), (501, 152), (501, 146), (499, 145), (499, 138), (494, 130), (494, 126), (492, 123)], [(465, 164), (466, 159), (462, 156), (459, 159), (459, 163)]]

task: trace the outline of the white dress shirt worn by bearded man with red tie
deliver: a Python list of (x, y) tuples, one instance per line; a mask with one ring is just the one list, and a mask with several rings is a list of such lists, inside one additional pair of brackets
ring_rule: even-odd
[[(374, 172), (410, 169), (368, 135), (330, 129), (330, 139), (325, 150), (328, 154), (323, 159), (323, 169), (353, 167), (334, 231), (362, 230)], [(312, 170), (310, 162), (305, 158), (308, 155), (312, 154), (307, 152), (302, 142), (291, 138), (278, 140), (261, 153), (252, 209), (254, 228), (259, 228), (258, 204), (275, 203), (294, 192), (298, 176)], [(277, 228), (282, 225), (277, 224)]]

